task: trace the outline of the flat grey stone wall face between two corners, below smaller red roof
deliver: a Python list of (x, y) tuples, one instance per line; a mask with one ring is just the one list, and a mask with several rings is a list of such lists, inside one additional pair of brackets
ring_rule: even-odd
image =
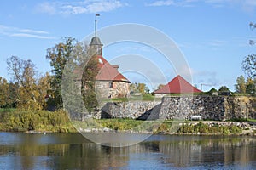
[(183, 96), (162, 99), (160, 117), (166, 119), (202, 116), (202, 119), (224, 120), (224, 97)]

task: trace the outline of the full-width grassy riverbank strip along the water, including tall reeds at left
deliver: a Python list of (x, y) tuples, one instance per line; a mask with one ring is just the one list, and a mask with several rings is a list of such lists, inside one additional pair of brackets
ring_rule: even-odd
[(206, 135), (256, 135), (256, 121), (140, 121), (100, 119), (93, 122), (70, 122), (65, 111), (2, 111), (0, 131), (28, 133), (166, 133)]

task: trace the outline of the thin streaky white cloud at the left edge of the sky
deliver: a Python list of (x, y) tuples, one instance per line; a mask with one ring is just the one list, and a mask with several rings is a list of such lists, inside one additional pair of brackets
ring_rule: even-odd
[(55, 39), (55, 37), (45, 36), (48, 35), (47, 31), (20, 29), (17, 27), (0, 25), (0, 35), (9, 37), (32, 37), (38, 39)]

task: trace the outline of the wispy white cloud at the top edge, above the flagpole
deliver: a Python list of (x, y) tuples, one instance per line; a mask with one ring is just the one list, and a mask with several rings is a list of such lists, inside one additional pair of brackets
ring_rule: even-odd
[(50, 2), (39, 3), (36, 11), (46, 14), (93, 14), (112, 11), (126, 5), (127, 3), (121, 3), (118, 0), (89, 0), (72, 3)]

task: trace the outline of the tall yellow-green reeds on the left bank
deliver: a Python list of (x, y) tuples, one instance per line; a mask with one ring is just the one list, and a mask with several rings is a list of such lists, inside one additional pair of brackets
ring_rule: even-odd
[[(10, 111), (1, 113), (2, 131), (73, 131), (65, 111)], [(69, 129), (70, 128), (70, 129)]]

